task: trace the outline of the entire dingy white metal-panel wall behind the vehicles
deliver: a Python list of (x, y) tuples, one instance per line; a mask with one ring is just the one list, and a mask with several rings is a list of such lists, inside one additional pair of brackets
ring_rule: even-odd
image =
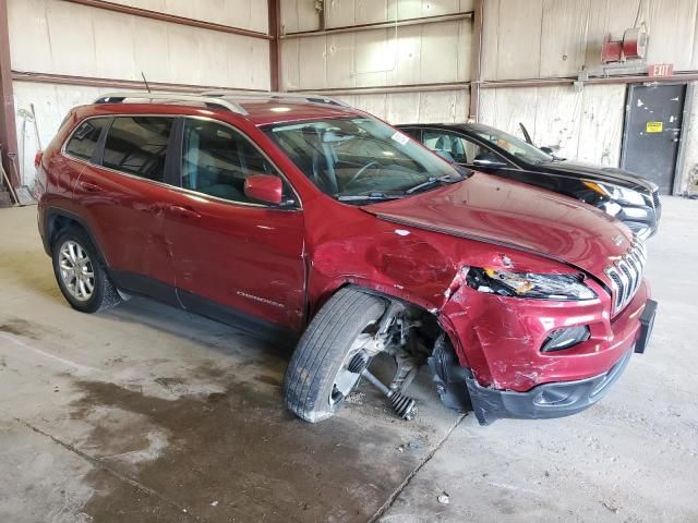
[[(124, 5), (268, 32), (264, 0), (121, 0)], [(284, 34), (317, 31), (314, 0), (281, 0)], [(473, 0), (325, 0), (326, 29), (466, 13)], [(268, 89), (269, 41), (88, 8), (59, 0), (9, 0), (15, 71)], [(604, 35), (636, 22), (650, 31), (649, 62), (698, 70), (698, 0), (484, 0), (483, 82), (573, 77), (599, 64)], [(464, 121), (472, 80), (471, 19), (281, 40), (281, 87), (339, 92), (393, 123)], [(429, 89), (419, 87), (430, 84)], [(434, 84), (437, 84), (434, 86)], [(440, 87), (438, 84), (443, 84)], [(396, 92), (396, 86), (405, 86)], [(370, 88), (370, 93), (356, 89)], [(43, 143), (65, 111), (108, 88), (14, 82), (16, 109), (35, 104)], [(382, 92), (383, 90), (383, 92)], [(571, 84), (480, 89), (480, 119), (540, 145), (603, 165), (619, 160), (626, 87)], [(695, 99), (695, 97), (694, 97)], [(684, 129), (683, 183), (698, 173), (698, 115)], [(25, 183), (37, 148), (33, 125), (17, 115)], [(23, 139), (24, 137), (24, 139)]]

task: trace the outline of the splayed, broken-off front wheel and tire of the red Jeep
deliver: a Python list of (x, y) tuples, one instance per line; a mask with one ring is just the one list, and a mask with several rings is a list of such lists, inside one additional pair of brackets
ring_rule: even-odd
[[(310, 423), (333, 416), (360, 375), (348, 375), (346, 366), (360, 352), (357, 345), (372, 335), (387, 303), (356, 289), (339, 290), (315, 315), (301, 337), (284, 380), (286, 405)], [(363, 338), (362, 338), (363, 337)], [(351, 379), (354, 378), (351, 382)], [(344, 384), (338, 390), (335, 384)], [(347, 381), (349, 379), (349, 381)]]

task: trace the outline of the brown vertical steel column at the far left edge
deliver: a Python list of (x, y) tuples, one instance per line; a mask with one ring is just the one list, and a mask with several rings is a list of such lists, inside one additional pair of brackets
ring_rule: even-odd
[[(20, 183), (20, 173), (15, 171), (17, 155), (17, 130), (14, 121), (14, 95), (12, 92), (12, 64), (10, 59), (10, 21), (8, 1), (0, 0), (0, 144), (2, 144), (2, 166), (12, 184)], [(9, 156), (8, 156), (9, 155)], [(1, 179), (2, 177), (0, 177)], [(0, 180), (0, 186), (4, 182)]]

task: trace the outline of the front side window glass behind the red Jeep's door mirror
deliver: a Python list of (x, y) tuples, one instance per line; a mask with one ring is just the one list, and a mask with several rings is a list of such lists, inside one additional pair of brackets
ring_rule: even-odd
[(251, 174), (277, 175), (269, 161), (240, 133), (208, 120), (184, 124), (182, 186), (198, 193), (250, 203), (244, 181)]

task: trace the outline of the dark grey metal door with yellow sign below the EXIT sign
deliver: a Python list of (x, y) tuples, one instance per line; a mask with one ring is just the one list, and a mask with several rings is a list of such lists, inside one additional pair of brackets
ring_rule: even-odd
[(671, 194), (684, 120), (685, 84), (630, 85), (621, 167)]

